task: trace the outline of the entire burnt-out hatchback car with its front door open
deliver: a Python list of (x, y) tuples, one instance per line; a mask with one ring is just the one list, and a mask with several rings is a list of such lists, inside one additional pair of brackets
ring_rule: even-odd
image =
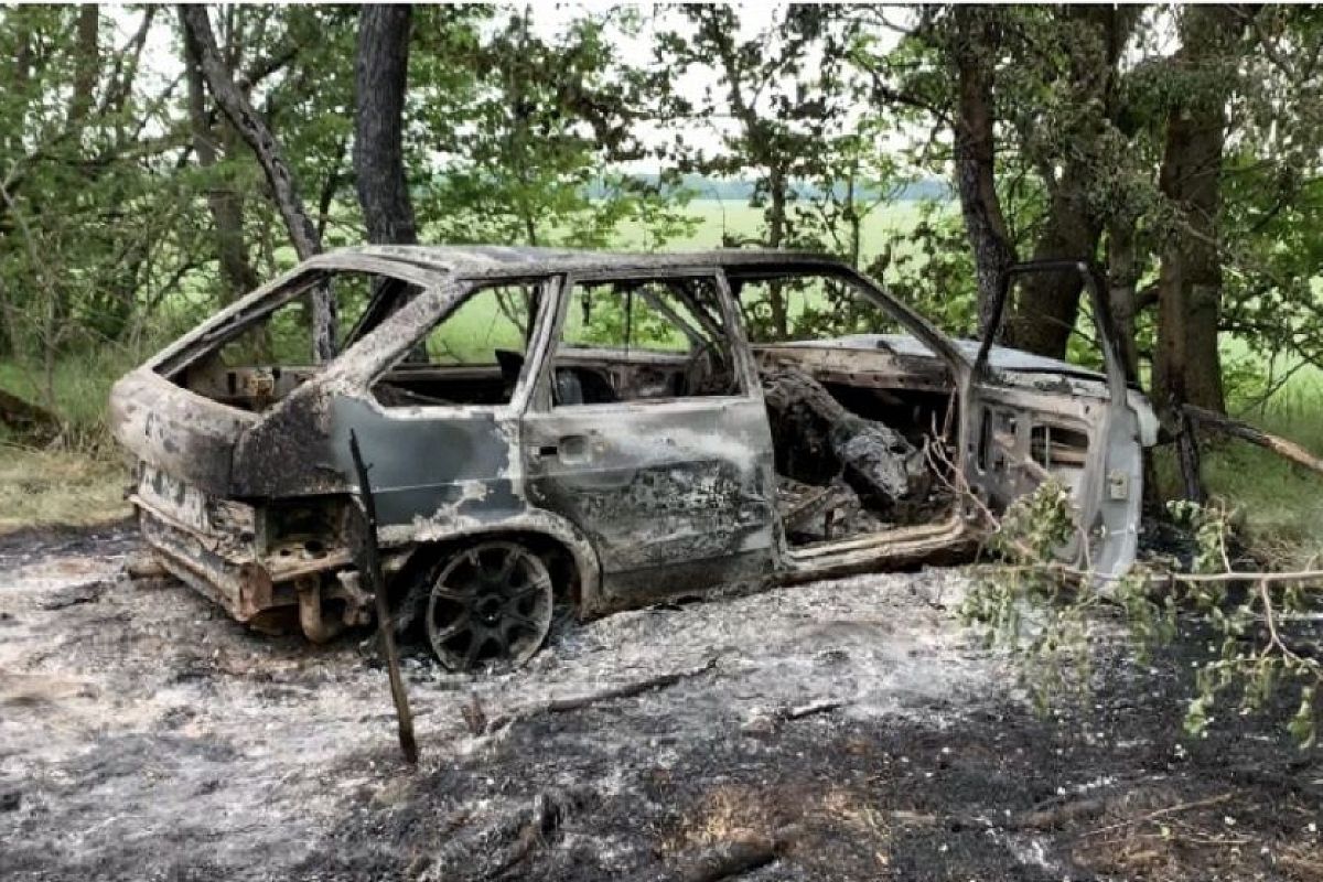
[[(316, 290), (343, 328), (324, 364)], [(785, 339), (824, 317), (860, 332)], [(1095, 324), (1091, 369), (951, 340), (815, 255), (359, 247), (127, 374), (111, 418), (146, 542), (238, 620), (370, 620), (370, 492), (397, 625), (499, 668), (556, 608), (967, 553), (975, 509), (1048, 479), (1081, 528), (1062, 554), (1122, 571), (1156, 421)]]

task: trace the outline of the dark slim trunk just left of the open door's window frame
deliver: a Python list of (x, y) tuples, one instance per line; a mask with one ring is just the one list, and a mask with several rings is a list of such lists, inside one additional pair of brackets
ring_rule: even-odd
[(996, 19), (984, 7), (955, 7), (951, 61), (957, 78), (955, 184), (964, 231), (974, 251), (978, 278), (979, 333), (991, 323), (994, 298), (1007, 267), (1015, 262), (996, 194), (992, 140), (992, 69), (996, 63)]

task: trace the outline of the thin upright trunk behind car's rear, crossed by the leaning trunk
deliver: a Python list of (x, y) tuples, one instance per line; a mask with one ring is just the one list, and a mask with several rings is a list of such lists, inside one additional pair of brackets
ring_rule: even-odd
[[(184, 62), (188, 74), (188, 108), (193, 126), (193, 152), (204, 169), (216, 167), (216, 130), (206, 112), (206, 91), (202, 66), (192, 32), (184, 30)], [(206, 189), (206, 206), (216, 225), (216, 257), (225, 284), (224, 300), (230, 303), (258, 286), (257, 271), (243, 247), (243, 204), (229, 185), (212, 181)]]

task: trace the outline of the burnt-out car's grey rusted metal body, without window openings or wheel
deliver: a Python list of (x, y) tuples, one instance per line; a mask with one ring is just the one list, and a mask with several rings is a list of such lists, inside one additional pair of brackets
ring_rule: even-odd
[[(418, 294), (328, 364), (229, 377), (278, 401), (253, 413), (176, 378), (308, 284), (372, 272)], [(906, 333), (751, 346), (728, 276), (815, 272), (848, 279)], [(565, 292), (576, 283), (675, 275), (710, 278), (728, 319), (742, 391), (664, 403), (556, 407), (545, 394)], [(503, 279), (546, 292), (507, 403), (384, 407), (376, 378), (470, 294)], [(377, 541), (390, 573), (419, 549), (488, 536), (524, 537), (572, 562), (582, 615), (745, 581), (795, 581), (963, 554), (975, 513), (792, 547), (775, 506), (773, 442), (758, 369), (794, 364), (823, 380), (925, 383), (958, 399), (954, 456), (975, 499), (1002, 508), (1046, 476), (1033, 467), (1048, 422), (1088, 438), (1070, 472), (1089, 554), (1103, 573), (1134, 558), (1140, 451), (1155, 438), (1147, 402), (1129, 390), (1111, 342), (1094, 373), (1000, 346), (957, 341), (849, 267), (783, 251), (627, 255), (545, 249), (376, 246), (306, 261), (185, 335), (122, 378), (111, 424), (135, 461), (132, 502), (163, 562), (232, 615), (257, 621), (299, 607), (325, 636), (329, 600), (363, 621), (361, 518), (349, 435), (370, 463)], [(283, 383), (283, 386), (282, 386)], [(980, 440), (982, 439), (982, 440)], [(991, 452), (990, 452), (991, 451)], [(1086, 547), (1088, 546), (1088, 547)], [(339, 623), (337, 623), (339, 624)]]

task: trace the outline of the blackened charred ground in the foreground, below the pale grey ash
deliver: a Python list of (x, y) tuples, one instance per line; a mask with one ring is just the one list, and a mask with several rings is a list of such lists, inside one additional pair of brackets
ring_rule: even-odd
[(1323, 756), (1286, 734), (1291, 701), (1183, 735), (1207, 636), (1183, 628), (1143, 666), (1102, 648), (1089, 700), (1048, 715), (938, 702), (706, 731), (636, 701), (542, 715), (360, 800), (294, 875), (728, 878), (701, 873), (714, 846), (771, 841), (730, 878), (1320, 879)]

